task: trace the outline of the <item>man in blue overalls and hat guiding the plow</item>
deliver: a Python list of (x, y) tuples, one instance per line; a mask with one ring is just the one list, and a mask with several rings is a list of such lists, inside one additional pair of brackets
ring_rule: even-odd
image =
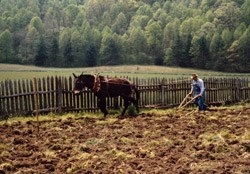
[(198, 105), (199, 111), (206, 110), (204, 82), (202, 79), (198, 78), (197, 74), (192, 74), (191, 79), (193, 81), (189, 95), (191, 96), (194, 94), (194, 96), (197, 96), (197, 98), (194, 100), (194, 103)]

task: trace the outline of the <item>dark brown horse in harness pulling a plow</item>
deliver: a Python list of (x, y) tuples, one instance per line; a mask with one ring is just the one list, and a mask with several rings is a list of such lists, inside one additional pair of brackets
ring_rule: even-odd
[[(125, 114), (126, 109), (132, 102), (137, 111), (138, 100), (140, 94), (138, 89), (130, 81), (123, 78), (110, 78), (100, 75), (81, 74), (76, 76), (73, 73), (74, 79), (74, 93), (79, 94), (84, 88), (91, 89), (98, 98), (99, 108), (104, 113), (104, 117), (108, 114), (106, 109), (106, 97), (121, 96), (124, 99), (124, 109), (122, 115)], [(133, 92), (136, 93), (136, 99), (133, 97)]]

